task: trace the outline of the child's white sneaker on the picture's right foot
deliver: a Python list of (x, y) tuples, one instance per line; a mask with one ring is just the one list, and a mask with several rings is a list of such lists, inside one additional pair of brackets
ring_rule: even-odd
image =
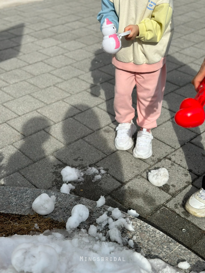
[(152, 140), (153, 135), (143, 128), (142, 131), (137, 132), (136, 146), (133, 150), (133, 156), (137, 158), (146, 159), (152, 155)]

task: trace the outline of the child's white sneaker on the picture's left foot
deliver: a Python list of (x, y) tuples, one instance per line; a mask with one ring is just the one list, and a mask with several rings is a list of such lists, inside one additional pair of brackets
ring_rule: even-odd
[(115, 147), (117, 150), (128, 150), (133, 145), (132, 135), (136, 132), (136, 126), (131, 120), (130, 123), (119, 123), (116, 128)]

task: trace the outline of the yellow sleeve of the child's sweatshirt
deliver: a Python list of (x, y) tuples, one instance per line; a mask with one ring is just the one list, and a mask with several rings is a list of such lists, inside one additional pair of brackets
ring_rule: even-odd
[(139, 24), (139, 38), (143, 42), (157, 43), (161, 40), (172, 18), (169, 4), (160, 4), (152, 12), (151, 19), (145, 18)]

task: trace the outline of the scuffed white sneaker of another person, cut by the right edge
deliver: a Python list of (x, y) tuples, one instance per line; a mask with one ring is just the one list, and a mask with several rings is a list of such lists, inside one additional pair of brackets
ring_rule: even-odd
[(203, 188), (189, 197), (185, 209), (194, 216), (205, 217), (205, 190)]

